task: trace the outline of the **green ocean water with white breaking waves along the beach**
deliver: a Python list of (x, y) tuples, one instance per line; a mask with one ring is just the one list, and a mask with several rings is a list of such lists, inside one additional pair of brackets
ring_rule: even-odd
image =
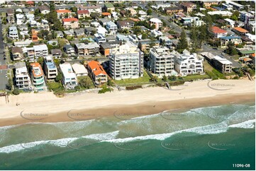
[(0, 170), (255, 170), (255, 103), (2, 126)]

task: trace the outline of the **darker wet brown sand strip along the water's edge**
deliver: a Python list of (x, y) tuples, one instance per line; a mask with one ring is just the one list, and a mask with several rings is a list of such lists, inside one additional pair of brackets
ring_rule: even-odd
[[(218, 105), (237, 105), (255, 102), (255, 94), (233, 94), (217, 95), (211, 98), (193, 98), (186, 100), (172, 100), (162, 102), (143, 102), (137, 105), (113, 105), (109, 107), (99, 107), (91, 110), (69, 110), (57, 113), (45, 113), (40, 117), (29, 117), (19, 115), (0, 119), (0, 126), (11, 126), (28, 123), (57, 123), (57, 122), (79, 122), (89, 119), (100, 119), (112, 117), (115, 119), (127, 120), (133, 117), (142, 117), (150, 114), (158, 114), (165, 111), (175, 111), (177, 113), (192, 110), (199, 107), (212, 107)], [(39, 118), (38, 118), (39, 117)], [(34, 120), (35, 119), (35, 120)]]

